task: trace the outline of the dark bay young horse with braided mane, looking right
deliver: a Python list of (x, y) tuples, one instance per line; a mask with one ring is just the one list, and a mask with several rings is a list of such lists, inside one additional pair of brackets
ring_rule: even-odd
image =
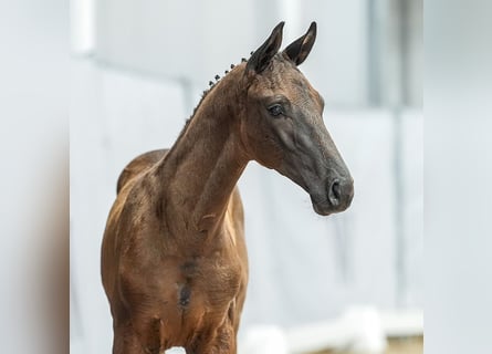
[(119, 176), (102, 247), (113, 353), (237, 352), (248, 259), (235, 184), (248, 162), (292, 179), (320, 215), (349, 206), (353, 179), (323, 98), (297, 69), (316, 24), (279, 52), (282, 29), (212, 85), (169, 150)]

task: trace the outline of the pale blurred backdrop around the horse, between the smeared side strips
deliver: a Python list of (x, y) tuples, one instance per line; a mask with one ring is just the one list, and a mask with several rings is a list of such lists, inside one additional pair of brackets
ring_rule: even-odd
[(421, 353), (419, 0), (71, 1), (72, 353), (111, 352), (100, 250), (119, 171), (171, 146), (208, 82), (282, 20), (282, 48), (318, 24), (300, 69), (326, 101), (355, 197), (323, 218), (300, 187), (248, 166), (239, 181), (250, 257), (240, 348)]

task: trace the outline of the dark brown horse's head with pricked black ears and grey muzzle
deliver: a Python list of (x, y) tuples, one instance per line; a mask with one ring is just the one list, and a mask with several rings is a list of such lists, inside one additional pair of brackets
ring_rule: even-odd
[(327, 216), (348, 208), (354, 180), (324, 125), (323, 97), (297, 69), (313, 48), (316, 23), (279, 52), (283, 24), (245, 63), (240, 136), (251, 159), (301, 186)]

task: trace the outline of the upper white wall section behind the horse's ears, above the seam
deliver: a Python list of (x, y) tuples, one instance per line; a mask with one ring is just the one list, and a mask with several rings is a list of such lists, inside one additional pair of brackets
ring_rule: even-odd
[(206, 86), (217, 73), (260, 46), (286, 20), (284, 44), (318, 22), (304, 64), (328, 104), (367, 104), (367, 2), (134, 1), (97, 2), (95, 55), (100, 61)]

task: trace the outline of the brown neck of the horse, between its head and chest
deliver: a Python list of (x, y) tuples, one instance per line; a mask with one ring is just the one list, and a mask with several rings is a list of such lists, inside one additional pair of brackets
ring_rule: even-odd
[(238, 80), (232, 72), (228, 76), (207, 94), (156, 168), (163, 190), (158, 202), (181, 225), (179, 231), (213, 232), (248, 164), (238, 133)]

